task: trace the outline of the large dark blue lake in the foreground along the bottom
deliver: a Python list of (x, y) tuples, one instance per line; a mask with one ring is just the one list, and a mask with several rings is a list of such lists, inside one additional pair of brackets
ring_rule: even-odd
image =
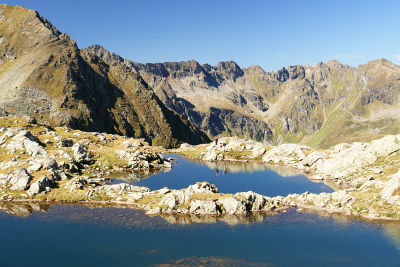
[(0, 212), (2, 266), (400, 263), (398, 222), (369, 222), (289, 210), (270, 215), (209, 217), (204, 219), (208, 224), (198, 224), (201, 219), (197, 216), (150, 217), (128, 208), (7, 205), (1, 205), (1, 209), (25, 217)]

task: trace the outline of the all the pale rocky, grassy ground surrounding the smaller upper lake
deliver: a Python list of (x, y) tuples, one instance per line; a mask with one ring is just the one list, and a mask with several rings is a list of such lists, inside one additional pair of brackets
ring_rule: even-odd
[[(207, 182), (184, 189), (151, 191), (110, 183), (113, 173), (149, 174), (173, 168), (161, 152), (207, 161), (263, 161), (304, 171), (326, 182), (333, 193), (268, 197), (255, 192), (222, 194)], [(245, 215), (298, 208), (400, 219), (400, 136), (330, 149), (304, 145), (264, 146), (238, 138), (166, 150), (143, 140), (113, 134), (50, 127), (32, 118), (0, 119), (0, 201), (109, 204), (144, 209), (148, 214)], [(179, 221), (179, 220), (178, 220)]]

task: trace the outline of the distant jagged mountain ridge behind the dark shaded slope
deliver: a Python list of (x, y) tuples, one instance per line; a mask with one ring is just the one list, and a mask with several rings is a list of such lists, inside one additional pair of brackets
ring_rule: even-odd
[(265, 72), (232, 61), (140, 64), (98, 45), (86, 51), (136, 70), (168, 107), (209, 135), (329, 147), (400, 131), (400, 67), (385, 59)]

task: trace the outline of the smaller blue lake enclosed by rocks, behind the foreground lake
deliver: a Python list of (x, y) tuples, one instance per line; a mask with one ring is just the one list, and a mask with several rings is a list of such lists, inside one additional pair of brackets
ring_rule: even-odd
[(221, 193), (254, 191), (271, 197), (301, 194), (306, 191), (311, 193), (334, 191), (324, 183), (307, 179), (294, 169), (277, 167), (272, 169), (257, 162), (216, 163), (192, 161), (179, 155), (167, 155), (167, 157), (176, 159), (176, 164), (171, 170), (131, 183), (157, 190), (163, 187), (181, 189), (196, 182), (207, 181), (215, 184)]

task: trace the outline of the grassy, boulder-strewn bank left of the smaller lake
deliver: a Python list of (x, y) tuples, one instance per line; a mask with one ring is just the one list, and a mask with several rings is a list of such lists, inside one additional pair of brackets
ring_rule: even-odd
[(0, 118), (0, 200), (80, 200), (80, 193), (68, 195), (63, 188), (96, 187), (113, 172), (145, 175), (171, 168), (172, 162), (157, 150), (118, 135)]

